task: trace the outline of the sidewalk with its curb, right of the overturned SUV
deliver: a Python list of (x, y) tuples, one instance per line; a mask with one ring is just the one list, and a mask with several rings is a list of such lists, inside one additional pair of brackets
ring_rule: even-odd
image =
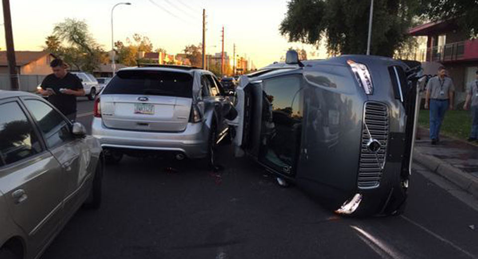
[(413, 159), (478, 198), (478, 146), (444, 136), (432, 145), (428, 129), (418, 133)]

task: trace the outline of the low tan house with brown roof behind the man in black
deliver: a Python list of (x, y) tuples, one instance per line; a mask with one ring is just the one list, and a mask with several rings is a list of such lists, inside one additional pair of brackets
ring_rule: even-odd
[[(15, 51), (16, 67), (19, 75), (51, 74), (50, 62), (55, 56), (46, 51)], [(8, 74), (6, 51), (0, 51), (0, 74)]]

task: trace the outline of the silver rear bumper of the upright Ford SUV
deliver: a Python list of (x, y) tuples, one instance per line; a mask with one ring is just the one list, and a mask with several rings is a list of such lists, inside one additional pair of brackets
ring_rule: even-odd
[(170, 151), (189, 158), (203, 158), (207, 154), (208, 128), (202, 123), (188, 123), (182, 132), (147, 132), (110, 129), (101, 118), (94, 118), (92, 134), (103, 148)]

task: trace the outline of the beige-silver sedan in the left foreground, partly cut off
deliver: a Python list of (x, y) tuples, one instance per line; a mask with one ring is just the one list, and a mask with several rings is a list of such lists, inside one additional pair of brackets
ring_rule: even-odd
[(99, 141), (43, 98), (0, 91), (0, 258), (39, 258), (86, 205), (99, 208)]

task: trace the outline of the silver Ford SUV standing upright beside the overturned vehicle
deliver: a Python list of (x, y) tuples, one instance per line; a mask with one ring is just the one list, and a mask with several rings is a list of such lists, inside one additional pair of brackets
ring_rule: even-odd
[(92, 133), (106, 160), (172, 154), (214, 165), (235, 112), (221, 83), (194, 67), (144, 65), (120, 70), (94, 105)]

